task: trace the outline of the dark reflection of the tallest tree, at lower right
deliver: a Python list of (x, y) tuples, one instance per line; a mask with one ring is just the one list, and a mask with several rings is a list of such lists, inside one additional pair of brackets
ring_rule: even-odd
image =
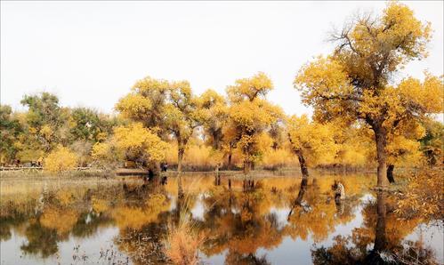
[(364, 227), (353, 229), (351, 237), (335, 237), (335, 243), (328, 248), (314, 248), (313, 263), (436, 264), (432, 250), (420, 241), (401, 242), (419, 222), (398, 220), (392, 210), (388, 210), (388, 200), (386, 192), (378, 191), (376, 203), (370, 202), (362, 210)]

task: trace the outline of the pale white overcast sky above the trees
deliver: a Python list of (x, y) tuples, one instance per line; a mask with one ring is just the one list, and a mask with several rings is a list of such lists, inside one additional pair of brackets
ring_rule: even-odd
[[(413, 2), (434, 30), (430, 56), (397, 78), (443, 74), (443, 2)], [(1, 2), (0, 101), (23, 110), (24, 94), (55, 93), (61, 106), (114, 111), (144, 76), (189, 80), (196, 94), (225, 92), (265, 72), (268, 99), (287, 114), (311, 114), (293, 80), (332, 50), (333, 28), (380, 2)]]

